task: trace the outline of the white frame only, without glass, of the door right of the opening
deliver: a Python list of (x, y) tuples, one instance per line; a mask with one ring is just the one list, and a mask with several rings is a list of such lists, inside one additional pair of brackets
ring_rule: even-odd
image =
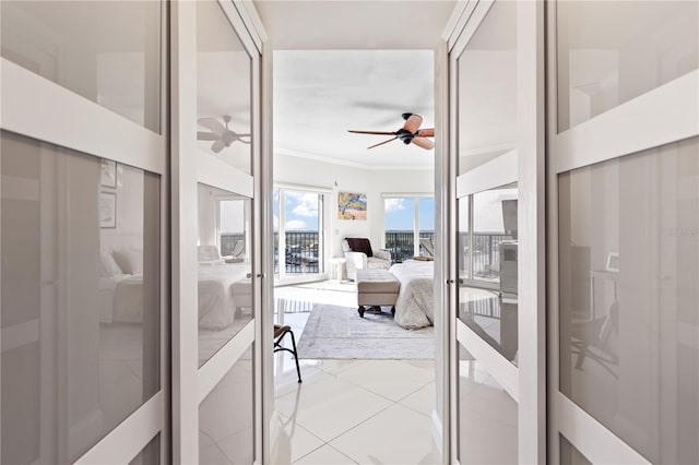
[[(458, 58), (481, 24), (493, 0), (469, 1), (451, 22), (445, 36), (449, 50), (449, 254), (447, 282), (458, 281), (455, 199), (502, 186), (511, 177), (519, 188), (519, 366), (512, 366), (457, 319), (458, 286), (450, 286), (448, 313), (450, 336), (450, 458), (455, 463), (458, 431), (458, 344), (479, 354), (478, 361), (519, 405), (518, 450), (520, 463), (546, 462), (546, 313), (545, 313), (545, 171), (544, 171), (544, 2), (518, 2), (518, 138), (517, 151), (478, 168), (479, 176), (458, 176)], [(514, 164), (512, 157), (517, 156)], [(505, 166), (502, 165), (505, 163)], [(510, 166), (508, 168), (507, 166)], [(514, 167), (514, 169), (511, 169)], [(510, 172), (508, 179), (502, 178)], [(470, 179), (471, 178), (471, 179)], [(491, 184), (483, 183), (489, 179)]]

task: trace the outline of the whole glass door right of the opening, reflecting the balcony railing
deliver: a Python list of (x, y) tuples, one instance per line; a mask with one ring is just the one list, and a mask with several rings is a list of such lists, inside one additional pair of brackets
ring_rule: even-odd
[(447, 39), (449, 453), (543, 463), (543, 3), (461, 7)]

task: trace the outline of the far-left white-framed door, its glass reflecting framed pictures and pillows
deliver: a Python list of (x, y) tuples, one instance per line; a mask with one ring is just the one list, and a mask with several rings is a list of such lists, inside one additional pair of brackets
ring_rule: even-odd
[(0, 462), (169, 463), (168, 4), (0, 15)]

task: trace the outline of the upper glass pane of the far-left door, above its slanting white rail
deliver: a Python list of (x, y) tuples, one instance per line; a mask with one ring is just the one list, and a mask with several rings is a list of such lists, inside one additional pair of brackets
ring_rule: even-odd
[(0, 5), (3, 58), (161, 132), (159, 1)]

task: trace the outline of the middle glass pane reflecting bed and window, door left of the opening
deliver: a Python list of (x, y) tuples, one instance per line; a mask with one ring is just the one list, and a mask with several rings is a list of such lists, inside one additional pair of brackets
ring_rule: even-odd
[(199, 365), (253, 317), (251, 201), (206, 184), (198, 189)]

